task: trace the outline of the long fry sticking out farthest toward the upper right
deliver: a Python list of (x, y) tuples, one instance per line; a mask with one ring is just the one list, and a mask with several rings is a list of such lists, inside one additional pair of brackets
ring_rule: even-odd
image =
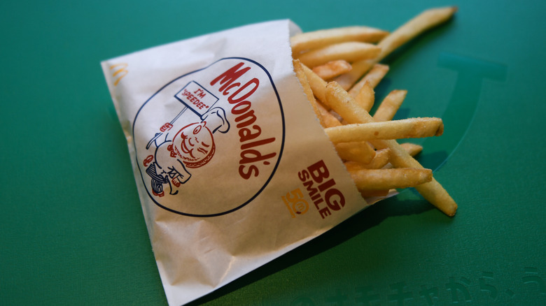
[(424, 31), (436, 27), (443, 22), (446, 22), (456, 12), (456, 7), (447, 8), (432, 8), (423, 11), (423, 13), (412, 18), (401, 27), (393, 31), (384, 39), (379, 41), (377, 46), (381, 48), (381, 52), (374, 59), (363, 59), (351, 63), (353, 68), (348, 73), (339, 75), (335, 79), (344, 89), (349, 89), (353, 84), (370, 70), (374, 64), (377, 64), (381, 59), (384, 59), (393, 50), (400, 47), (407, 41), (423, 33)]

